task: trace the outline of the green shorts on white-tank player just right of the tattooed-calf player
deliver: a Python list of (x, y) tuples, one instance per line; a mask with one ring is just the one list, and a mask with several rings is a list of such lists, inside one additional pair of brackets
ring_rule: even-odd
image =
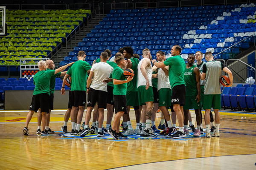
[(158, 91), (158, 105), (159, 106), (171, 106), (172, 105), (172, 91), (170, 88), (160, 88)]

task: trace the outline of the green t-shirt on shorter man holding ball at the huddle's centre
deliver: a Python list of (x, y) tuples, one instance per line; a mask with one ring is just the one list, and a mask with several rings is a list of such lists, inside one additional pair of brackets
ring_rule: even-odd
[[(124, 71), (120, 67), (114, 68), (113, 71), (113, 79), (118, 79), (118, 80), (126, 80), (124, 77)], [(113, 89), (113, 95), (126, 95), (127, 91), (127, 83), (122, 83), (120, 85), (114, 85)]]

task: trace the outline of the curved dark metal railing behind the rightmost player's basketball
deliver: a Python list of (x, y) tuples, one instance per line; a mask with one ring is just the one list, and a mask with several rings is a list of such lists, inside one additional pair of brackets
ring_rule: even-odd
[(233, 83), (245, 83), (248, 77), (256, 79), (256, 69), (240, 59), (228, 59), (226, 67), (233, 73)]

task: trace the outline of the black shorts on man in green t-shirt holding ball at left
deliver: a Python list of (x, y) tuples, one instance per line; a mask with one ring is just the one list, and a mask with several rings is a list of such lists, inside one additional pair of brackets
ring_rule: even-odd
[(70, 105), (74, 107), (84, 106), (86, 102), (86, 91), (71, 91)]

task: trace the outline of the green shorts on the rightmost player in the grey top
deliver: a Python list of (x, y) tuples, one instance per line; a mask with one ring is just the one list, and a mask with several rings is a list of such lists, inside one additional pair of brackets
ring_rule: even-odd
[(204, 95), (204, 109), (220, 109), (221, 108), (221, 94), (205, 94)]

